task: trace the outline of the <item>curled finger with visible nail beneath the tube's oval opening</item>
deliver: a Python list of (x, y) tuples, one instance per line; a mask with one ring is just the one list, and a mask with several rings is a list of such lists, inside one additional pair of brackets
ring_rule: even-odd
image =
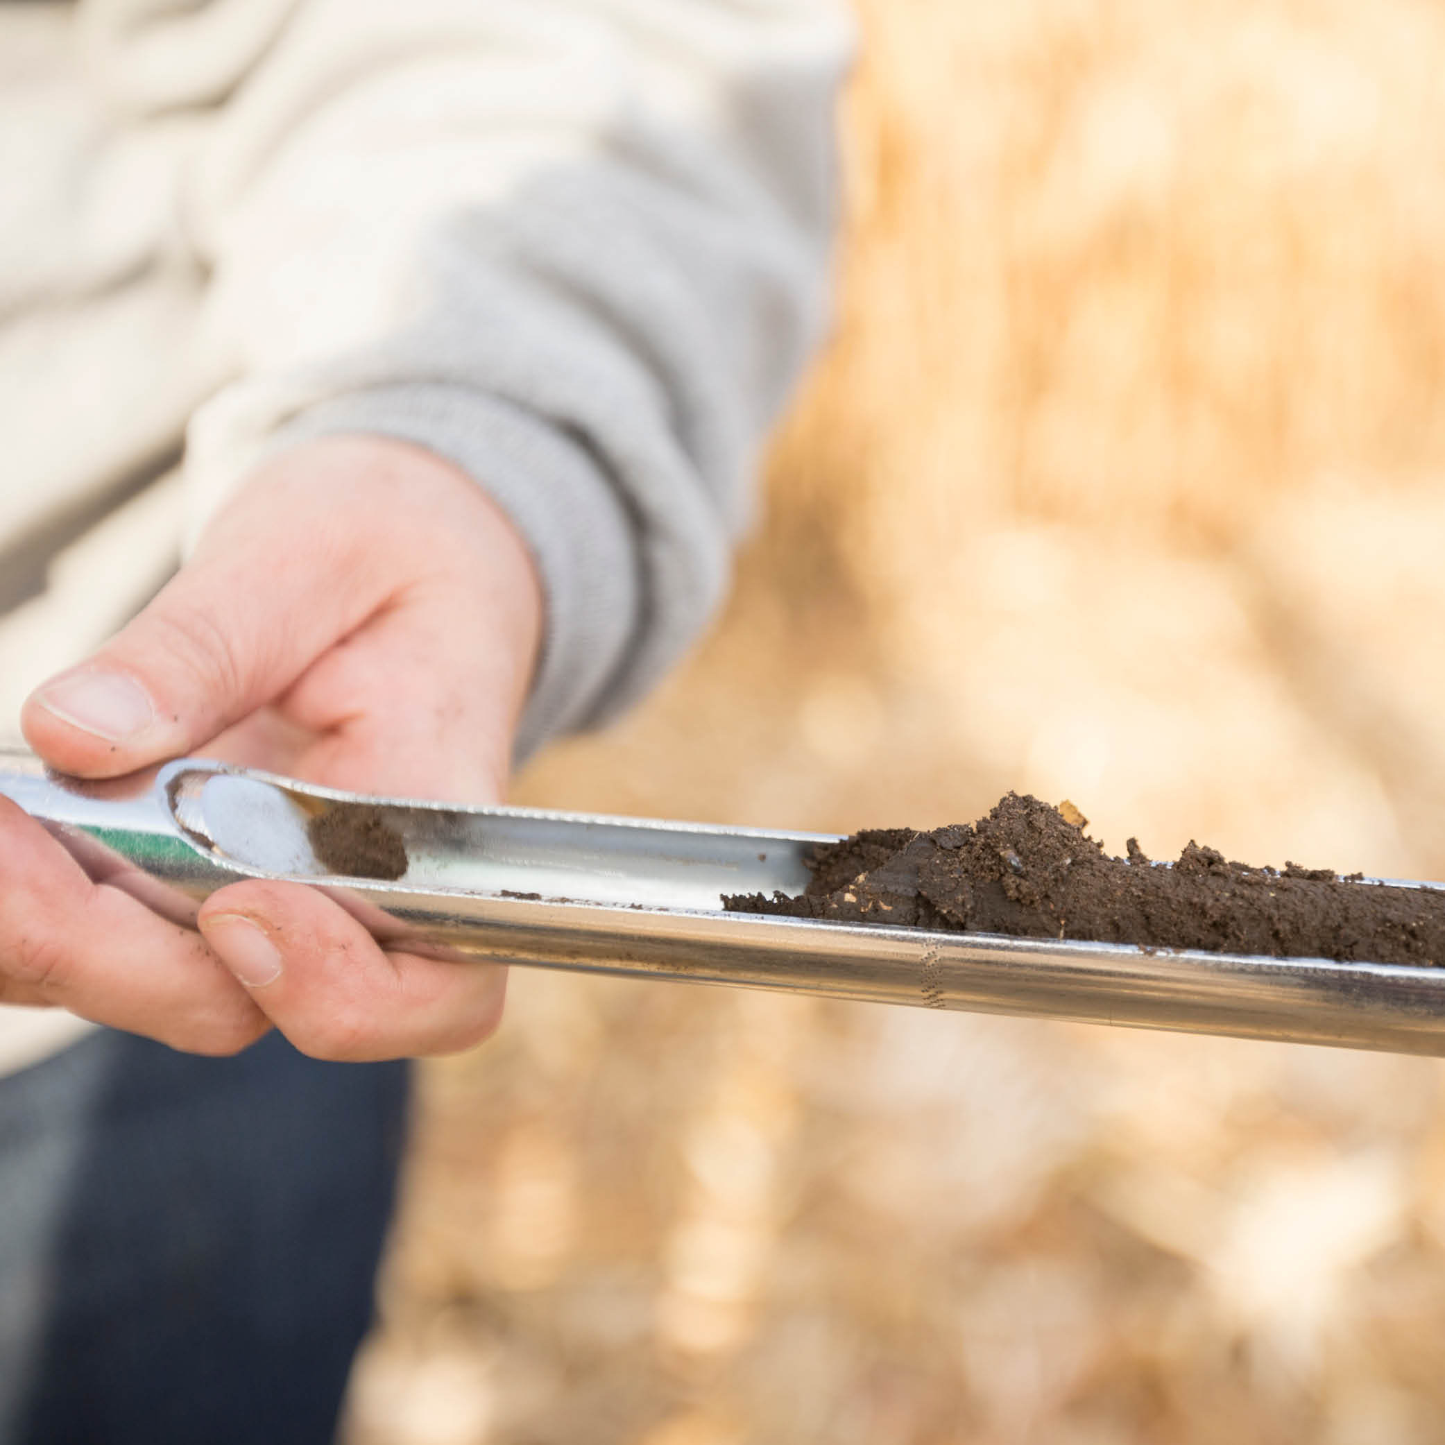
[(212, 894), (201, 931), (303, 1053), (368, 1061), (454, 1053), (501, 1019), (506, 968), (383, 952), (332, 899), (246, 881)]

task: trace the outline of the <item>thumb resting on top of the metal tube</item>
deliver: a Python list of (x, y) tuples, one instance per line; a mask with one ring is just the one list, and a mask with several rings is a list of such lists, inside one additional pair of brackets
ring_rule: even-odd
[(240, 526), (208, 540), (110, 643), (26, 701), (22, 728), (52, 767), (111, 777), (194, 751), (280, 695), (381, 600), (371, 569), (306, 529)]

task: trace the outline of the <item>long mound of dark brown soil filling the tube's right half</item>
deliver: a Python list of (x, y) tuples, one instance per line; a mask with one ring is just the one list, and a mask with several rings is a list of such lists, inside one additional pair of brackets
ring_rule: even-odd
[[(1068, 815), (1068, 816), (1065, 816)], [(1069, 819), (1074, 821), (1069, 821)], [(1064, 812), (1009, 793), (978, 822), (824, 844), (801, 897), (725, 897), (741, 913), (1017, 938), (1077, 938), (1276, 958), (1445, 964), (1445, 893), (1228, 863), (1191, 842), (1173, 867), (1134, 838), (1113, 858)]]

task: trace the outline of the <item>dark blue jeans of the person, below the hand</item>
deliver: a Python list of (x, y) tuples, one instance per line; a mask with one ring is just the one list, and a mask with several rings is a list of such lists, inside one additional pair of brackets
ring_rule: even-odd
[(405, 1064), (103, 1032), (0, 1081), (0, 1442), (325, 1445)]

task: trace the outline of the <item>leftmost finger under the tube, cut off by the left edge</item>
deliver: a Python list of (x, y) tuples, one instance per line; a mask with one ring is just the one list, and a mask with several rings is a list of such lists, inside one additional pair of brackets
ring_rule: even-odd
[(0, 977), (12, 1003), (58, 1004), (195, 1053), (236, 1053), (269, 1027), (204, 939), (95, 884), (0, 799)]

